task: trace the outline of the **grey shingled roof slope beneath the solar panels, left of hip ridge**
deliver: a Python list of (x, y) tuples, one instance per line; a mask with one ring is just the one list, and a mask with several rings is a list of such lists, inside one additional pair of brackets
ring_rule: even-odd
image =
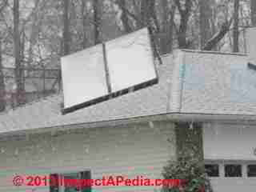
[(162, 58), (164, 64), (158, 67), (159, 82), (154, 86), (66, 115), (61, 114), (62, 94), (54, 95), (1, 114), (0, 133), (164, 114), (167, 112), (170, 95), (171, 58), (170, 55)]

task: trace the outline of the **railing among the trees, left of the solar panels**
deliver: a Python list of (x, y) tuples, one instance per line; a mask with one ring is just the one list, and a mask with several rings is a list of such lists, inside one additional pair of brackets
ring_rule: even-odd
[[(4, 101), (6, 109), (15, 108), (23, 103), (32, 102), (38, 98), (46, 97), (61, 90), (61, 72), (58, 69), (22, 68), (19, 74), (24, 88), (18, 93), (16, 86), (16, 68), (3, 67), (2, 74), (5, 82)], [(1, 75), (1, 73), (0, 73)], [(1, 89), (1, 86), (0, 86)]]

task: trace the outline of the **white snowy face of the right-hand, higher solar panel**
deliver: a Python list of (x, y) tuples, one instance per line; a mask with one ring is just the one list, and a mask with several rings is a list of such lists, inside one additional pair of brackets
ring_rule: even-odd
[(113, 92), (157, 78), (146, 28), (106, 42), (106, 57)]

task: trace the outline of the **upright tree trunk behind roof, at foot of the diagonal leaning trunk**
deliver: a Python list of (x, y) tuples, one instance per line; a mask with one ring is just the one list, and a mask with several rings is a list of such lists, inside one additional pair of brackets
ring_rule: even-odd
[(200, 47), (206, 45), (206, 42), (211, 37), (210, 31), (210, 18), (211, 18), (211, 8), (210, 0), (200, 0), (199, 2), (199, 22), (200, 22)]

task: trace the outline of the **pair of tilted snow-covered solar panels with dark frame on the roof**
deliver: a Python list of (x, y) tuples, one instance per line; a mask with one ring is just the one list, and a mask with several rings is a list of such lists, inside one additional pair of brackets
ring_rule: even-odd
[(147, 28), (61, 58), (63, 114), (158, 82)]

